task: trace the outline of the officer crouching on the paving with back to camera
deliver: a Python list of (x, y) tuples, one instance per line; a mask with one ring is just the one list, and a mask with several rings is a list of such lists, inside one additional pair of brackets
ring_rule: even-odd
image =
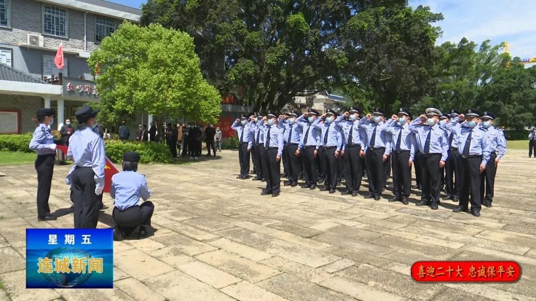
[[(147, 201), (151, 197), (151, 190), (147, 187), (145, 176), (136, 173), (139, 159), (138, 153), (125, 152), (123, 171), (111, 177), (110, 196), (114, 199), (112, 216), (117, 225), (114, 240), (143, 238), (152, 232), (154, 205)], [(138, 205), (140, 197), (145, 202)]]

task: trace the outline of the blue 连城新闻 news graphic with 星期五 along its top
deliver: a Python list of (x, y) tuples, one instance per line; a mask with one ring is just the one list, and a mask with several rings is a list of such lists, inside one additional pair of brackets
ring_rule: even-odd
[(114, 288), (113, 229), (26, 229), (26, 288)]

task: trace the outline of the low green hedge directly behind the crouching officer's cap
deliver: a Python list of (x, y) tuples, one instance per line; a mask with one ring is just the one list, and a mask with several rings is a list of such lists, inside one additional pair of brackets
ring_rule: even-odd
[(167, 145), (155, 142), (125, 142), (120, 140), (105, 140), (106, 156), (114, 162), (121, 163), (123, 155), (135, 151), (141, 157), (140, 163), (170, 163), (171, 153)]

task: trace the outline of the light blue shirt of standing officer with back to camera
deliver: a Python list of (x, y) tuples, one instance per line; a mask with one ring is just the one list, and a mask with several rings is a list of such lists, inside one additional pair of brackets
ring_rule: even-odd
[(104, 187), (104, 168), (106, 166), (104, 140), (95, 134), (93, 129), (84, 125), (71, 135), (67, 157), (74, 163), (67, 175), (67, 184), (71, 184), (71, 174), (75, 171), (75, 167), (80, 166), (91, 167), (95, 173), (96, 186)]

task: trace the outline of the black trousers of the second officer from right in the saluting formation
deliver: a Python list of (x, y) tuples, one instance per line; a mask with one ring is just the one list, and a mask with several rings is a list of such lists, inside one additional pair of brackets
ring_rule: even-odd
[(481, 209), (482, 200), (480, 198), (480, 163), (482, 156), (461, 157), (460, 170), (460, 206), (467, 209), (469, 204), (469, 194), (471, 194), (471, 208)]

